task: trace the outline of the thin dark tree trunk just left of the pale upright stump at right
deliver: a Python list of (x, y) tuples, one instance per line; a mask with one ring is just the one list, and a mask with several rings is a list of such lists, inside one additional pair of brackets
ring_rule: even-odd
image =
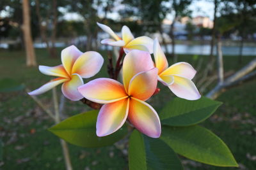
[(214, 56), (213, 56), (213, 48), (215, 43), (215, 34), (216, 34), (216, 12), (218, 9), (218, 0), (214, 0), (214, 19), (213, 19), (213, 27), (212, 27), (212, 39), (211, 39), (211, 51), (209, 55), (209, 72), (212, 73), (212, 69), (214, 66)]

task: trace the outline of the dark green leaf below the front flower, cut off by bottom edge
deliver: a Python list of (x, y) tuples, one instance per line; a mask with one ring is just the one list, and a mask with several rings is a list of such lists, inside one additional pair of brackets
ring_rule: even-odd
[(183, 169), (172, 148), (134, 130), (129, 140), (129, 169)]

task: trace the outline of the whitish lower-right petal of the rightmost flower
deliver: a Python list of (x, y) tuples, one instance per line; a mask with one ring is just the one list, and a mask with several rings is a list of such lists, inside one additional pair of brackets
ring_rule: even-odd
[(176, 96), (191, 101), (200, 99), (201, 95), (193, 81), (180, 76), (173, 76), (173, 78), (174, 83), (169, 88)]

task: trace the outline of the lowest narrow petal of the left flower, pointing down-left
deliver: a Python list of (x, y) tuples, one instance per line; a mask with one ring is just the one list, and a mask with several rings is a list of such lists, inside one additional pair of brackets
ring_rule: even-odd
[(39, 94), (42, 94), (44, 92), (47, 92), (48, 90), (51, 90), (52, 88), (56, 87), (57, 85), (60, 85), (60, 83), (63, 83), (65, 81), (68, 81), (67, 78), (54, 78), (53, 80), (49, 81), (45, 85), (42, 85), (36, 90), (33, 90), (32, 92), (29, 92), (28, 94), (30, 96), (36, 96)]

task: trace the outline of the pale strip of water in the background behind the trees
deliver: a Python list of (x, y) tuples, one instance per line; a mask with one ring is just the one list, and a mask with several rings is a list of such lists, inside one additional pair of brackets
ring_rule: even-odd
[[(65, 43), (56, 43), (57, 47), (67, 46)], [(35, 48), (45, 48), (44, 43), (34, 43)], [(8, 44), (1, 43), (0, 48), (8, 48)], [(172, 45), (167, 45), (168, 52), (172, 52)], [(209, 55), (210, 45), (175, 45), (175, 53), (191, 55)], [(100, 50), (112, 50), (112, 46), (101, 45)], [(165, 48), (163, 48), (165, 50)], [(239, 46), (222, 46), (223, 55), (239, 55)], [(214, 54), (216, 48), (214, 48)], [(256, 55), (256, 46), (244, 46), (243, 55)]]

